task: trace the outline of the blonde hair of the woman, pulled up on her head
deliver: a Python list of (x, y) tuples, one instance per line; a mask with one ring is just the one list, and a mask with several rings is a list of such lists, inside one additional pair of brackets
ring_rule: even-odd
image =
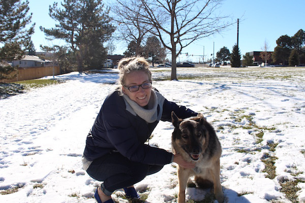
[(143, 71), (147, 74), (148, 80), (151, 80), (149, 64), (144, 57), (135, 56), (130, 58), (122, 58), (118, 62), (117, 68), (119, 70), (119, 82), (122, 86), (125, 85), (126, 75), (134, 71)]

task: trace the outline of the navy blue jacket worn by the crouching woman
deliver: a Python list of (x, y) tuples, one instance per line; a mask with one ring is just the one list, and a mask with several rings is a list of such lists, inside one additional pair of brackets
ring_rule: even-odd
[[(159, 106), (158, 111), (160, 111)], [(197, 115), (192, 110), (165, 99), (161, 120), (171, 122), (172, 111), (179, 118)], [(132, 115), (126, 110), (124, 98), (119, 95), (119, 90), (115, 90), (105, 99), (87, 136), (84, 157), (92, 161), (113, 151), (118, 151), (132, 161), (150, 165), (168, 164), (171, 162), (172, 153), (144, 144), (158, 122), (147, 123), (138, 115)]]

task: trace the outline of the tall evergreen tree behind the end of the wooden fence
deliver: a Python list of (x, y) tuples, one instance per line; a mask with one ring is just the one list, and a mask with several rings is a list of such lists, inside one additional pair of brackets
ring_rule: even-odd
[(50, 17), (58, 22), (55, 28), (40, 29), (47, 37), (68, 43), (81, 72), (83, 67), (101, 66), (107, 57), (103, 43), (115, 29), (107, 10), (102, 0), (64, 0), (61, 7), (57, 3), (49, 7)]

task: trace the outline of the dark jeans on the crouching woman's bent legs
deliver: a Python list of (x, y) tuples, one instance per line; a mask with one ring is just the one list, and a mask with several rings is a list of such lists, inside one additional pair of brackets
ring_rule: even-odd
[(140, 182), (147, 175), (155, 174), (163, 165), (147, 165), (130, 161), (118, 152), (107, 154), (94, 160), (87, 173), (98, 181), (104, 181), (102, 191), (110, 196), (116, 189)]

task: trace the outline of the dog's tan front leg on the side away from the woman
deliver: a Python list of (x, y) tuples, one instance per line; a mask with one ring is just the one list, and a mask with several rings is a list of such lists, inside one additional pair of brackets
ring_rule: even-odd
[(217, 160), (214, 164), (214, 170), (209, 170), (214, 182), (214, 194), (219, 203), (224, 202), (224, 193), (220, 184), (220, 161)]

